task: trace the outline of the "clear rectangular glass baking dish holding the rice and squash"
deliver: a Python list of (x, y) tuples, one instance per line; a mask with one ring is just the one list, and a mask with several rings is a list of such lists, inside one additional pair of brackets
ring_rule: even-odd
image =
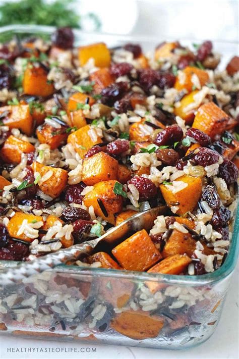
[[(36, 26), (5, 28), (0, 31), (0, 41), (6, 33), (49, 35), (53, 30)], [(145, 50), (160, 42), (158, 38), (149, 41), (81, 31), (75, 31), (75, 38), (77, 45), (102, 39), (108, 46), (137, 41)], [(187, 42), (192, 41), (184, 41)], [(236, 44), (214, 44), (218, 52), (225, 54), (225, 62), (236, 53)], [(228, 256), (213, 273), (192, 277), (59, 266), (23, 284), (1, 288), (0, 329), (3, 334), (41, 339), (164, 349), (200, 344), (212, 335), (219, 322), (236, 263), (238, 213), (237, 209)], [(14, 265), (2, 261), (0, 269)], [(153, 294), (146, 282), (153, 282)]]

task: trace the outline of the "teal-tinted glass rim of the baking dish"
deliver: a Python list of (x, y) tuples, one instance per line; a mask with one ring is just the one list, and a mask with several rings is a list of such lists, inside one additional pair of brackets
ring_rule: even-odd
[[(42, 26), (42, 25), (8, 25), (0, 27), (0, 34), (5, 32), (14, 32), (14, 33), (32, 33), (32, 34), (48, 34), (50, 35), (55, 30), (53, 26)], [(118, 34), (104, 34), (104, 33), (96, 33), (96, 32), (86, 32), (79, 29), (74, 29), (75, 35), (79, 36), (89, 36), (89, 37), (97, 37), (101, 39), (108, 38), (115, 41), (145, 41), (145, 42), (155, 42), (159, 41), (159, 37), (144, 37), (144, 36), (135, 36), (135, 35), (118, 35)], [(182, 40), (194, 40), (195, 38), (182, 38)], [(175, 39), (174, 39), (175, 40)], [(232, 41), (213, 41), (217, 44), (228, 44), (228, 45), (236, 45), (238, 42)], [(233, 234), (230, 241), (230, 248), (228, 255), (223, 263), (223, 266), (218, 268), (216, 271), (212, 273), (207, 273), (204, 275), (198, 276), (189, 276), (189, 275), (170, 275), (170, 274), (157, 274), (157, 273), (147, 273), (147, 272), (134, 272), (134, 271), (124, 271), (124, 270), (114, 270), (114, 269), (104, 269), (104, 268), (86, 268), (81, 266), (68, 266), (68, 265), (59, 265), (53, 269), (54, 272), (58, 273), (76, 273), (76, 274), (84, 274), (88, 276), (103, 276), (103, 277), (114, 277), (114, 278), (124, 278), (124, 279), (134, 279), (139, 281), (159, 281), (162, 283), (175, 284), (175, 285), (209, 285), (212, 283), (216, 283), (218, 281), (223, 280), (227, 277), (234, 269), (236, 260), (237, 260), (237, 252), (238, 252), (238, 231), (239, 231), (239, 203), (237, 199), (237, 210), (235, 216), (235, 223), (233, 227)], [(239, 238), (238, 238), (239, 239)], [(14, 262), (16, 265), (17, 262)], [(13, 267), (12, 261), (0, 261), (0, 268), (7, 269), (8, 267)]]

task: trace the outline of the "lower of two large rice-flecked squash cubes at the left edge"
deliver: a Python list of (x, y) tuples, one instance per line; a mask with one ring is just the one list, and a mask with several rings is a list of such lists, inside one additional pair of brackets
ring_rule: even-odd
[(18, 164), (21, 162), (22, 153), (35, 152), (35, 147), (20, 138), (9, 136), (1, 149), (1, 157), (7, 163)]

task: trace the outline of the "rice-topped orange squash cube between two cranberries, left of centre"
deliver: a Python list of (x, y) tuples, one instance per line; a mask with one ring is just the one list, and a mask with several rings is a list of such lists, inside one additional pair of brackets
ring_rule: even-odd
[(43, 182), (40, 180), (38, 182), (39, 188), (43, 193), (51, 196), (52, 198), (56, 198), (63, 192), (68, 181), (68, 173), (66, 170), (45, 166), (39, 162), (33, 162), (32, 168), (34, 173), (39, 173), (41, 179), (45, 174), (50, 176), (47, 180)]

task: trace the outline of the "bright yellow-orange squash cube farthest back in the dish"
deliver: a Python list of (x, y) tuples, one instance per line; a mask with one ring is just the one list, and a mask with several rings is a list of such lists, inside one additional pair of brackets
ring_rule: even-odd
[(104, 42), (79, 47), (78, 58), (81, 66), (91, 58), (94, 59), (96, 67), (109, 67), (111, 61), (109, 49)]

